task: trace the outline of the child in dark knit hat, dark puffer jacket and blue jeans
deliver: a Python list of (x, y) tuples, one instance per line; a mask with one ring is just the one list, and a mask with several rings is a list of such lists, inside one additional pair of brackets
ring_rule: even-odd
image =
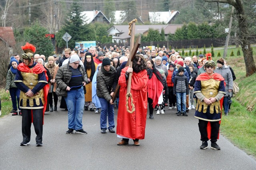
[(178, 68), (178, 74), (174, 77), (173, 82), (173, 94), (176, 95), (177, 98), (177, 116), (180, 116), (181, 113), (183, 116), (188, 116), (186, 113), (186, 96), (188, 96), (188, 78), (184, 75), (184, 71), (184, 67), (180, 66)]

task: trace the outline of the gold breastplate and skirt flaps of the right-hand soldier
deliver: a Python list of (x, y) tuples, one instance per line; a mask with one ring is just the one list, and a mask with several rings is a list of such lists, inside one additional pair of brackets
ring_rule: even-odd
[[(217, 96), (218, 94), (218, 89), (220, 86), (220, 81), (219, 80), (214, 80), (212, 78), (210, 78), (209, 80), (204, 80), (201, 81), (201, 91), (202, 94), (206, 97), (206, 98), (214, 98), (215, 96)], [(220, 113), (221, 109), (220, 109), (220, 101), (216, 101), (210, 105), (206, 105), (206, 103), (204, 101), (197, 101), (197, 105), (196, 105), (196, 109), (198, 109), (199, 112), (202, 111), (202, 106), (204, 106), (203, 109), (203, 113), (206, 113), (207, 107), (210, 106), (210, 113), (213, 114), (214, 113), (214, 107), (215, 107), (215, 111), (216, 113)]]

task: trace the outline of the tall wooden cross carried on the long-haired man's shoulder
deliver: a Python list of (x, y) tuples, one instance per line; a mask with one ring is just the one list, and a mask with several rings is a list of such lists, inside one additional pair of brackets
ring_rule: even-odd
[[(131, 31), (129, 33), (129, 35), (131, 35), (131, 38), (130, 38), (130, 57), (129, 57), (125, 66), (132, 67), (132, 61), (134, 60), (134, 57), (137, 53), (137, 50), (140, 47), (141, 35), (138, 36), (138, 38), (136, 40), (136, 43), (134, 45), (135, 21), (133, 20), (130, 23), (131, 23)], [(129, 73), (128, 84), (127, 84), (127, 93), (131, 92), (131, 83), (132, 83), (132, 73)], [(119, 86), (119, 84), (117, 84), (116, 85), (116, 90), (115, 90), (115, 92), (113, 94), (113, 97), (112, 97), (112, 102), (114, 102), (116, 100), (116, 94), (118, 93), (119, 89), (120, 89), (120, 86)]]

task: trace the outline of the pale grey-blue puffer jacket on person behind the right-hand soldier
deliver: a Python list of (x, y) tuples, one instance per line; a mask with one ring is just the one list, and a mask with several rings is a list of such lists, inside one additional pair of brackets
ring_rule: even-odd
[(228, 92), (228, 90), (233, 90), (233, 78), (232, 78), (232, 72), (230, 71), (228, 66), (222, 66), (221, 68), (217, 67), (215, 70), (216, 73), (222, 75), (222, 77), (225, 79), (226, 86), (225, 86), (225, 96), (232, 96), (231, 92)]

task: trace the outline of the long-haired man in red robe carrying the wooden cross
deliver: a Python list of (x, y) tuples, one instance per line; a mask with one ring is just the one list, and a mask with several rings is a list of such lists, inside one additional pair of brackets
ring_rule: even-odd
[[(132, 73), (131, 90), (132, 99), (126, 97), (128, 76)], [(134, 145), (139, 146), (139, 139), (145, 137), (146, 116), (147, 116), (147, 82), (146, 61), (142, 55), (135, 55), (132, 67), (126, 66), (122, 69), (118, 80), (120, 86), (119, 107), (117, 115), (116, 134), (122, 138), (117, 145), (128, 145), (129, 139), (133, 139)], [(128, 101), (126, 100), (128, 98)], [(134, 104), (135, 111), (127, 111)]]

